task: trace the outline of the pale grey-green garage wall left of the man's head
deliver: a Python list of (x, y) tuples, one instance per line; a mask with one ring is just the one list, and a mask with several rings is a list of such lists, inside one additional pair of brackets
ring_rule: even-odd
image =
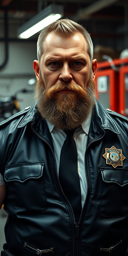
[[(0, 70), (0, 96), (14, 95), (17, 90), (34, 89), (28, 80), (35, 78), (33, 61), (37, 59), (35, 42), (9, 42), (9, 59), (6, 66)], [(4, 61), (4, 43), (0, 42), (0, 65)], [(33, 104), (33, 93), (19, 93), (20, 110)]]

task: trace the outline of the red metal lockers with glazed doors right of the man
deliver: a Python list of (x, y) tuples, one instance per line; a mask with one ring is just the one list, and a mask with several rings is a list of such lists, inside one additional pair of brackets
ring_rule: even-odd
[[(112, 109), (128, 117), (128, 58), (115, 59), (113, 63), (117, 71), (111, 68), (108, 61), (98, 63), (95, 75), (97, 99), (104, 108)], [(106, 80), (102, 78), (105, 76)], [(103, 81), (104, 85), (101, 86)], [(107, 86), (105, 81), (108, 83)]]

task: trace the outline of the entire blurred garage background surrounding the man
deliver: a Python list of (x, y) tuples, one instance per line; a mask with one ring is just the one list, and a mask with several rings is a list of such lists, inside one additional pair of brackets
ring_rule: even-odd
[[(66, 17), (91, 34), (98, 100), (128, 116), (128, 0), (0, 0), (0, 121), (33, 104), (38, 32)], [(0, 251), (6, 218), (2, 208)]]

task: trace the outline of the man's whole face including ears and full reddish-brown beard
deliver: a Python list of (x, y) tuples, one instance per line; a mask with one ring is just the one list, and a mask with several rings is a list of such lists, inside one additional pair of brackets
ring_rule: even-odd
[(76, 128), (95, 104), (97, 61), (92, 61), (91, 70), (87, 42), (80, 33), (68, 38), (50, 33), (43, 48), (40, 67), (34, 61), (38, 111), (62, 130)]

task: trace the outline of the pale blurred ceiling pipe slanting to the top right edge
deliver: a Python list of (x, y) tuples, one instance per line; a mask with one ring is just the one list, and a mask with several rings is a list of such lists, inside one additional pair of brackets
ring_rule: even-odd
[(117, 2), (118, 0), (100, 0), (95, 2), (94, 4), (89, 5), (85, 9), (79, 9), (78, 12), (71, 16), (70, 19), (74, 21), (79, 21), (80, 19), (86, 19), (89, 18), (89, 15), (92, 13), (95, 13), (101, 9), (103, 9), (106, 6), (109, 6), (113, 4), (114, 2)]

